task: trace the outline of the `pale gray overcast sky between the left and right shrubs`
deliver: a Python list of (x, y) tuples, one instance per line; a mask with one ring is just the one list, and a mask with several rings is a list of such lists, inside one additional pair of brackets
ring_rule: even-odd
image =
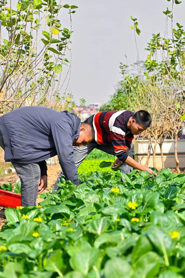
[[(138, 19), (139, 56), (144, 60), (144, 48), (152, 33), (164, 35), (166, 0), (68, 0), (79, 8), (72, 14), (72, 73), (69, 83), (74, 100), (85, 98), (88, 103), (108, 101), (121, 80), (119, 62), (136, 62), (134, 31), (130, 16)], [(185, 1), (174, 5), (174, 22), (185, 25)], [(62, 23), (65, 25), (65, 16)], [(63, 25), (63, 27), (65, 27)]]

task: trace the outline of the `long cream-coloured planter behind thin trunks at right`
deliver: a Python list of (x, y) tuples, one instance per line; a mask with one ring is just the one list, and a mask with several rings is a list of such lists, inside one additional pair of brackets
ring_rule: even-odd
[[(134, 159), (141, 163), (145, 164), (147, 160), (148, 153), (148, 145), (149, 140), (134, 140)], [(152, 146), (154, 147), (154, 141), (152, 142)], [(164, 166), (166, 168), (175, 168), (175, 147), (174, 140), (164, 140), (162, 145), (163, 156), (164, 156)], [(177, 151), (178, 151), (178, 159), (180, 162), (180, 167), (185, 167), (185, 140), (178, 140), (177, 142)], [(153, 167), (153, 153), (152, 149), (150, 151), (151, 155), (149, 158), (149, 167)], [(156, 147), (156, 167), (157, 169), (162, 168), (162, 160), (160, 147), (157, 145)]]

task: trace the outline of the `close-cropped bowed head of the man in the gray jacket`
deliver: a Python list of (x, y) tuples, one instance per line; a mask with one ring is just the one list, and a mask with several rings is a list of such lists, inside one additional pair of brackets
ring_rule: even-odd
[(93, 129), (89, 124), (85, 122), (81, 123), (80, 127), (80, 135), (79, 137), (73, 142), (73, 146), (81, 147), (82, 145), (87, 145), (93, 139)]

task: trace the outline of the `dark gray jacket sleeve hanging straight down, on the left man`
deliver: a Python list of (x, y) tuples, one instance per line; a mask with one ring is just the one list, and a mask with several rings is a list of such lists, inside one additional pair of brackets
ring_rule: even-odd
[(79, 185), (77, 167), (73, 158), (72, 130), (69, 123), (64, 120), (53, 122), (51, 132), (64, 176)]

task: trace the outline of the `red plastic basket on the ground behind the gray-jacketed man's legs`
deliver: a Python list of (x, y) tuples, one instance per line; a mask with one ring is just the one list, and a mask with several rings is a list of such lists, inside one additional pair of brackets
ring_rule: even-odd
[(21, 194), (0, 189), (0, 206), (15, 208), (21, 206)]

